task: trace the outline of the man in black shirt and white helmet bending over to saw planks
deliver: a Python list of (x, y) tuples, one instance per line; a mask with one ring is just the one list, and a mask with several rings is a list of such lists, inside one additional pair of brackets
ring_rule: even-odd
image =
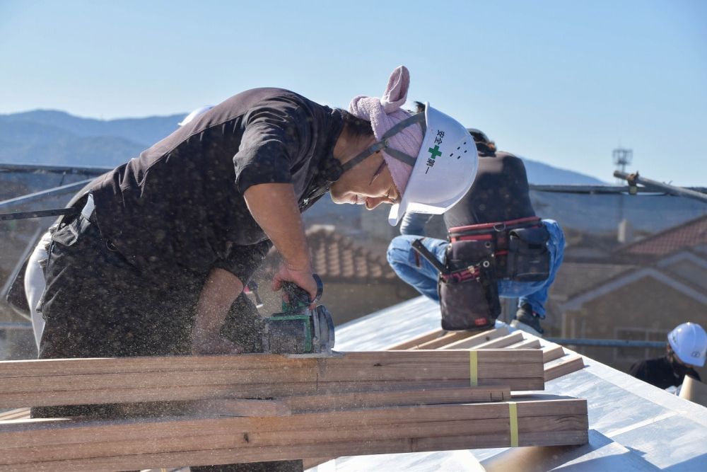
[(243, 352), (221, 328), (271, 245), (284, 261), (273, 288), (293, 282), (315, 299), (300, 212), (325, 193), (369, 209), (393, 204), (395, 223), (420, 199), (440, 211), (455, 203), (476, 153), (439, 158), (425, 173), (421, 147), (444, 132), (448, 154), (464, 128), (433, 108), (401, 110), (408, 87), (399, 67), (382, 98), (356, 97), (349, 111), (279, 88), (245, 91), (99, 179), (76, 202), (81, 214), (52, 234), (40, 358)]

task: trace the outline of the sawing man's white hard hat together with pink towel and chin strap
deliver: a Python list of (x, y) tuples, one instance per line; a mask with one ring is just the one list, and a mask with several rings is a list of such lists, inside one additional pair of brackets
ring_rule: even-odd
[(382, 151), (401, 200), (392, 206), (388, 222), (395, 226), (405, 212), (442, 214), (471, 188), (479, 156), (474, 139), (460, 122), (426, 103), (424, 113), (411, 115), (400, 107), (407, 100), (409, 71), (392, 72), (381, 98), (358, 96), (349, 112), (368, 120), (376, 142), (344, 171)]

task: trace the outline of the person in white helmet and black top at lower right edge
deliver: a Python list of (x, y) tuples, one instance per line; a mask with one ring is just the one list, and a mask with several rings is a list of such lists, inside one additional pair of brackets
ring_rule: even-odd
[(665, 355), (631, 366), (629, 374), (658, 388), (679, 387), (685, 376), (700, 380), (695, 367), (705, 364), (707, 334), (697, 323), (682, 323), (667, 335)]

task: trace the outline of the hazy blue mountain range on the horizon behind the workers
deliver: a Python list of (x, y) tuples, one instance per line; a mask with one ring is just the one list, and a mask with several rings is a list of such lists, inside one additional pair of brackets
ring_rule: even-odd
[[(0, 115), (0, 162), (117, 166), (168, 136), (187, 114), (119, 120), (57, 110)], [(590, 175), (523, 159), (530, 183), (602, 184)]]

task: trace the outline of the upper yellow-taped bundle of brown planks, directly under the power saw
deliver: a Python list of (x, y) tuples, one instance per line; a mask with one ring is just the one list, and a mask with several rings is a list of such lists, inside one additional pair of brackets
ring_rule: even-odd
[[(348, 352), (325, 358), (238, 355), (0, 362), (0, 408), (489, 385), (542, 390), (542, 353), (418, 350)], [(170, 388), (174, 386), (179, 388)]]

